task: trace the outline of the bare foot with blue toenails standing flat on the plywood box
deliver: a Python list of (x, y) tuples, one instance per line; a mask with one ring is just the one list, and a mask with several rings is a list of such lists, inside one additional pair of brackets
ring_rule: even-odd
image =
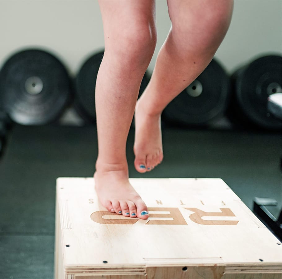
[(127, 164), (96, 163), (95, 190), (110, 212), (148, 219), (148, 208), (128, 180)]

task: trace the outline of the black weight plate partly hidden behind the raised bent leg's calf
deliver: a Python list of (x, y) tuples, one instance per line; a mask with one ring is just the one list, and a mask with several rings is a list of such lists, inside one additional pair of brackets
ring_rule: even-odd
[(163, 111), (163, 120), (178, 126), (208, 125), (223, 116), (230, 97), (230, 79), (213, 59), (200, 76)]

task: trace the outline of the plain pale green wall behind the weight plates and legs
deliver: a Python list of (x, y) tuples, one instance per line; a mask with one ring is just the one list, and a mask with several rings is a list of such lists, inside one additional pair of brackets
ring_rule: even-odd
[[(150, 71), (170, 29), (166, 1), (156, 0), (156, 17), (158, 42)], [(231, 72), (258, 54), (281, 53), (281, 34), (281, 0), (236, 0), (216, 57)], [(0, 66), (13, 51), (38, 46), (53, 51), (76, 73), (103, 44), (97, 0), (0, 0)]]

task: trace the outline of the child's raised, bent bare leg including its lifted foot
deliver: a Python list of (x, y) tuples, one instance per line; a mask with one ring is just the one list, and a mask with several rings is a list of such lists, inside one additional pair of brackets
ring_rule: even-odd
[[(161, 112), (206, 68), (229, 27), (232, 0), (168, 0), (172, 28), (135, 111), (135, 168), (163, 159)], [(146, 162), (143, 162), (144, 154)]]

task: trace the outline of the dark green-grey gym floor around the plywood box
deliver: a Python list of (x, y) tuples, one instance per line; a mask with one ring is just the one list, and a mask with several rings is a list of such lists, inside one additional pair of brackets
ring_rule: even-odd
[[(95, 126), (14, 126), (0, 159), (0, 278), (53, 278), (55, 179), (90, 177)], [(164, 161), (152, 172), (133, 166), (130, 177), (222, 178), (252, 209), (270, 197), (281, 208), (281, 135), (271, 132), (163, 129)]]

